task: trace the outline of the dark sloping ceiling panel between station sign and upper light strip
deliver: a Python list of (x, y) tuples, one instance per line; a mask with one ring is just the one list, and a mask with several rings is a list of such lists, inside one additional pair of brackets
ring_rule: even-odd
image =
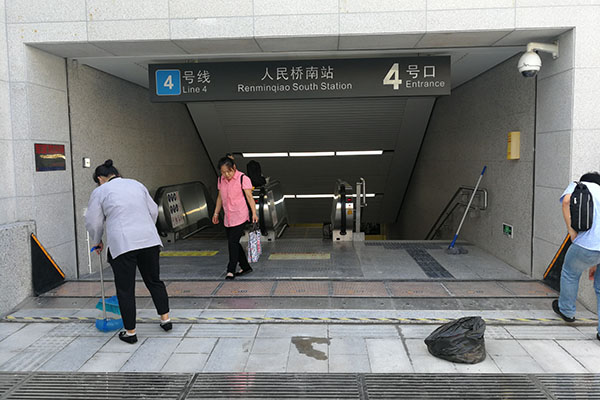
[(393, 149), (405, 105), (404, 98), (215, 103), (234, 152)]

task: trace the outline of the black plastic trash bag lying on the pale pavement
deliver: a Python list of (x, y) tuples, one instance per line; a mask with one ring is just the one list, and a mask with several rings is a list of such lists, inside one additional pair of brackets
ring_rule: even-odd
[(477, 364), (485, 360), (484, 333), (485, 321), (481, 317), (464, 317), (437, 328), (425, 339), (425, 344), (438, 358)]

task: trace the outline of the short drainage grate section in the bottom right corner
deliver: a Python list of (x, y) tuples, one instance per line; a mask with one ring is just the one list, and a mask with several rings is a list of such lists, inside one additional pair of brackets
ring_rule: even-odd
[(536, 375), (556, 399), (600, 400), (600, 374)]

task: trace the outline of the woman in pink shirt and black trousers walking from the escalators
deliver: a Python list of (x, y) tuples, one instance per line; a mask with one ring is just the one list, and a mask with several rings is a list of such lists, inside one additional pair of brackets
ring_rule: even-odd
[[(257, 223), (258, 217), (256, 216), (256, 203), (252, 197), (250, 178), (237, 170), (235, 161), (230, 157), (221, 158), (218, 167), (221, 177), (218, 182), (219, 195), (213, 215), (213, 224), (219, 223), (219, 212), (221, 212), (222, 206), (225, 211), (223, 222), (229, 243), (229, 264), (227, 264), (225, 279), (233, 279), (236, 275), (252, 272), (240, 239), (244, 234), (244, 226), (250, 219), (248, 208), (252, 213), (252, 223)], [(235, 269), (238, 263), (241, 270), (236, 273)]]

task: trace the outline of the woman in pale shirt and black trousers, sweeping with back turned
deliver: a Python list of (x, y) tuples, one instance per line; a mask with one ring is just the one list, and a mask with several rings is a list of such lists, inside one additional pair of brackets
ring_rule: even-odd
[(104, 248), (102, 234), (106, 225), (108, 262), (115, 276), (115, 287), (125, 331), (119, 339), (137, 342), (135, 333), (135, 273), (136, 265), (150, 291), (160, 326), (165, 331), (173, 328), (169, 319), (169, 297), (160, 280), (160, 248), (162, 242), (156, 231), (158, 206), (144, 185), (133, 179), (123, 179), (106, 160), (94, 172), (98, 187), (90, 196), (85, 226), (91, 243), (97, 243), (96, 252)]

